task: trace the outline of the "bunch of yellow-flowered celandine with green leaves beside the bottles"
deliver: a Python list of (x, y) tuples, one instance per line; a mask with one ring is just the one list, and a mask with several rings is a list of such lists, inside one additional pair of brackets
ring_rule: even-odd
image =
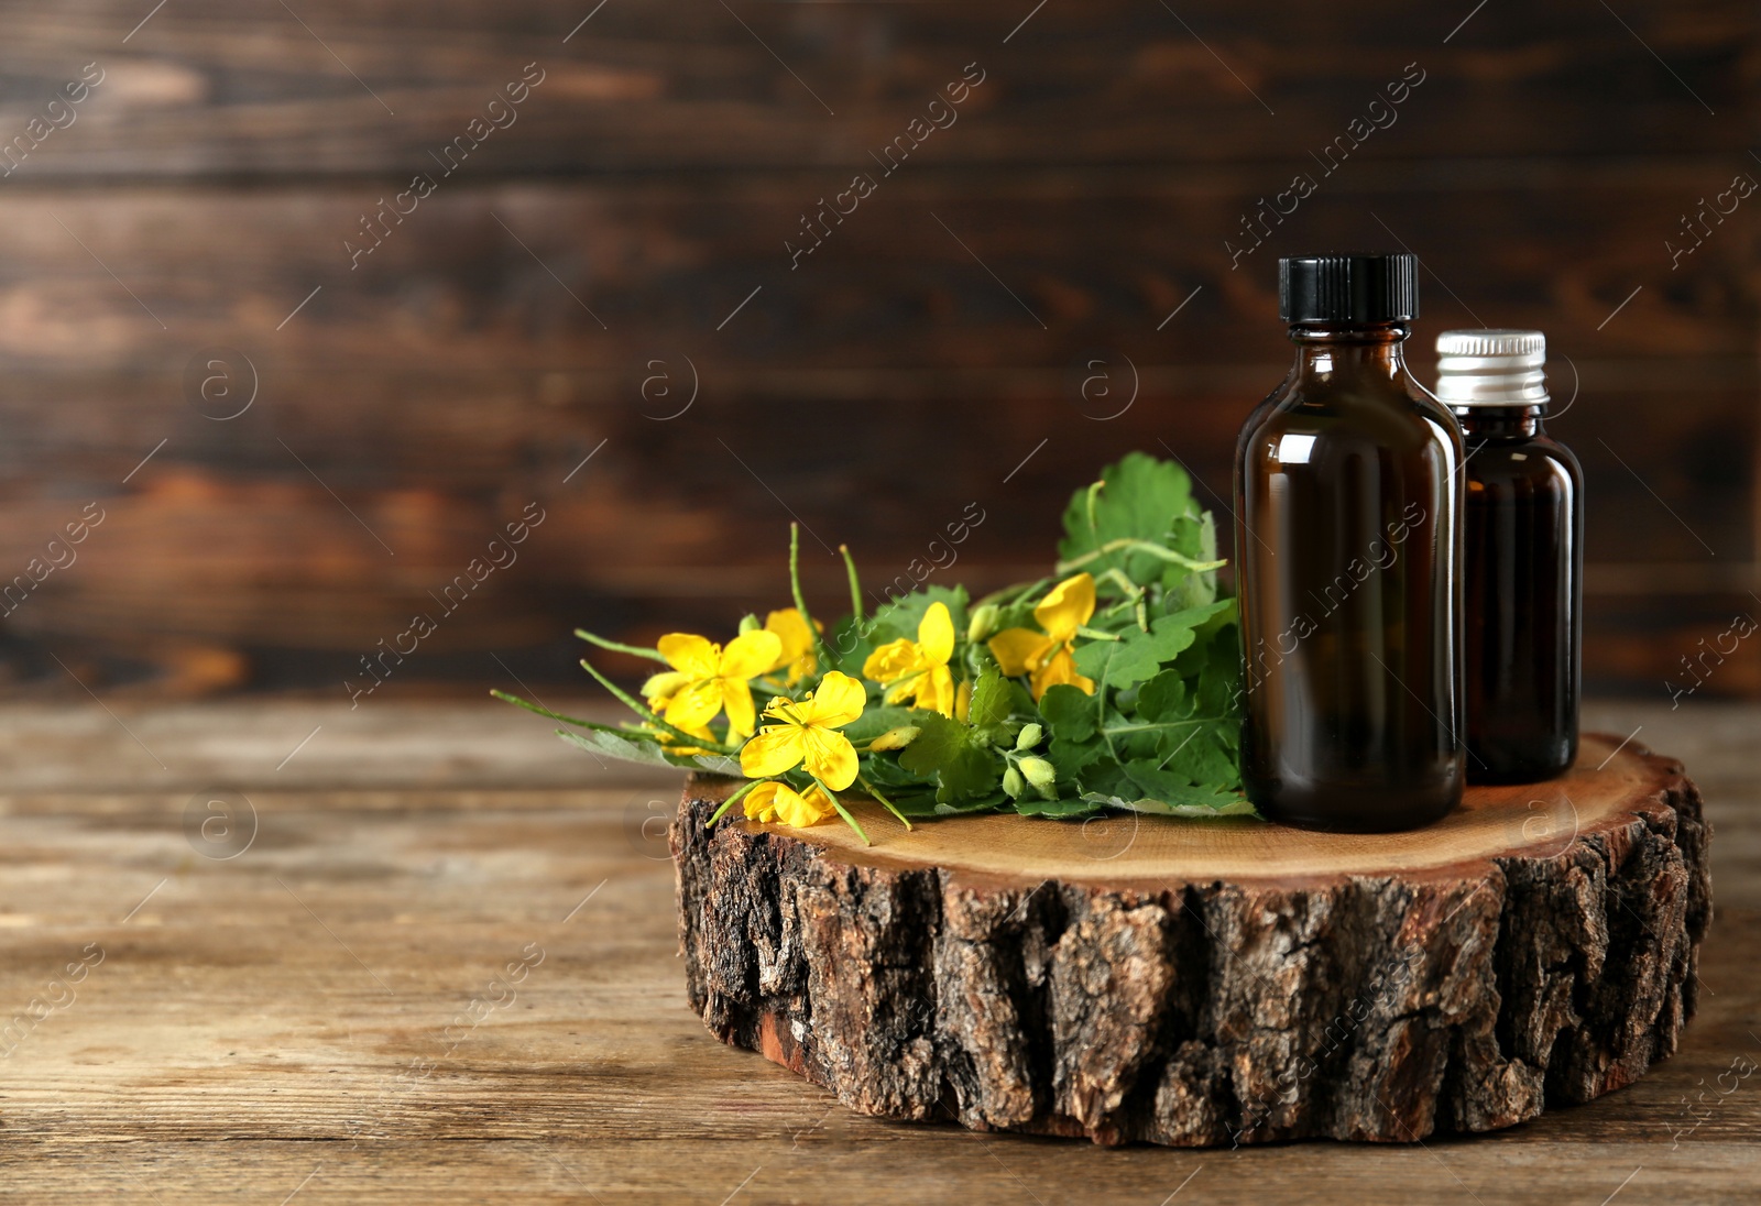
[[(960, 586), (926, 583), (865, 614), (856, 558), (847, 546), (838, 546), (838, 555), (851, 613), (831, 629), (821, 629), (808, 609), (801, 528), (792, 523), (789, 595), (799, 625), (787, 613), (782, 621), (773, 613), (759, 632), (755, 618), (748, 618), (727, 646), (676, 634), (667, 655), (576, 630), (595, 648), (667, 666), (650, 680), (650, 699), (643, 701), (581, 660), (634, 713), (636, 725), (569, 717), (507, 692), (491, 694), (586, 729), (574, 736), (592, 750), (678, 766), (722, 768), (727, 764), (717, 759), (741, 757), (754, 734), (734, 724), (738, 701), (752, 710), (745, 715), (755, 717), (752, 727), (759, 731), (819, 725), (815, 731), (828, 736), (814, 741), (844, 741), (856, 759), (856, 775), (844, 791), (873, 799), (907, 833), (926, 817), (997, 810), (1060, 819), (1109, 808), (1183, 817), (1247, 810), (1236, 757), (1236, 611), (1217, 590), (1215, 572), (1224, 562), (1215, 549), (1215, 521), (1194, 500), (1178, 463), (1132, 454), (1109, 465), (1065, 507), (1057, 572), (976, 602)], [(937, 613), (942, 607), (946, 616)], [(974, 618), (981, 609), (984, 614)], [(858, 634), (858, 648), (845, 651), (840, 639), (844, 657), (833, 660), (828, 630)], [(752, 660), (755, 650), (768, 658), (768, 650), (778, 648), (763, 643), (784, 637), (792, 644), (775, 666)], [(1025, 662), (1023, 650), (1032, 655)], [(810, 702), (814, 692), (828, 676), (854, 674), (858, 667), (863, 706), (852, 708), (854, 718), (821, 718)], [(847, 695), (851, 687), (838, 690)], [(754, 695), (764, 702), (763, 715)], [(926, 706), (923, 699), (935, 702)], [(703, 701), (726, 706), (722, 736), (704, 724)], [(708, 824), (748, 801), (761, 783), (775, 782), (764, 815), (799, 819), (817, 810), (870, 842), (851, 799), (831, 791), (812, 766), (808, 761), (780, 776), (748, 778), (720, 801)]]

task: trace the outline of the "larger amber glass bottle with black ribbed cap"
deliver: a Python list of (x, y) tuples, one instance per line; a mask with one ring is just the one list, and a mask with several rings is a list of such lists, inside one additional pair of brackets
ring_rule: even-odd
[(1236, 445), (1242, 782), (1391, 831), (1462, 799), (1462, 431), (1407, 371), (1411, 255), (1278, 261), (1296, 364)]

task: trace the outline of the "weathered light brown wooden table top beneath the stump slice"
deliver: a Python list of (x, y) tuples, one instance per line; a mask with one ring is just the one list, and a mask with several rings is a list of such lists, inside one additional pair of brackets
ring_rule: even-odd
[[(0, 1201), (1752, 1202), (1761, 708), (1587, 724), (1643, 725), (1715, 827), (1682, 1049), (1492, 1136), (1178, 1151), (877, 1121), (724, 1048), (676, 958), (676, 780), (537, 717), (0, 710)], [(227, 794), (248, 849), (199, 824)]]

